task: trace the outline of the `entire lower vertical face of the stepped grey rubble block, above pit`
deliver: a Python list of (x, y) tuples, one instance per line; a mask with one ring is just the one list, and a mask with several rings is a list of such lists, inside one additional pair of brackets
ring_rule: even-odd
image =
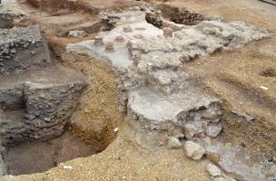
[[(2, 112), (1, 136), (6, 143), (15, 143), (24, 139), (47, 140), (61, 135), (84, 88), (82, 80), (59, 84), (34, 81), (27, 81), (23, 86), (19, 84), (15, 91), (19, 90), (22, 94), (17, 97), (18, 100), (15, 97), (14, 101), (9, 102), (12, 110)], [(17, 108), (17, 102), (23, 107)], [(18, 117), (3, 117), (5, 112), (17, 109), (22, 111)]]

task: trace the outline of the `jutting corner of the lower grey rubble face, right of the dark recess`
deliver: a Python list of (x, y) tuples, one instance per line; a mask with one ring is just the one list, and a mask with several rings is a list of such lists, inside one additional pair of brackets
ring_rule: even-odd
[(60, 136), (84, 87), (82, 81), (48, 88), (27, 86), (24, 92), (28, 137), (46, 140)]

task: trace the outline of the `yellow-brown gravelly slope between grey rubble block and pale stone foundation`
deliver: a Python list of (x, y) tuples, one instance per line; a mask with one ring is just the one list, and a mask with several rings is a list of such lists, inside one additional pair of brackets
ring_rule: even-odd
[(88, 87), (71, 118), (74, 135), (103, 150), (116, 137), (113, 130), (123, 125), (115, 73), (104, 62), (84, 54), (64, 54), (63, 64), (87, 76)]

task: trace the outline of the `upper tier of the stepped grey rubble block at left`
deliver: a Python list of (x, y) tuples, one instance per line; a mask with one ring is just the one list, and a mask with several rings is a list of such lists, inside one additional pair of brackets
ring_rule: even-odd
[(48, 46), (38, 25), (0, 29), (0, 75), (50, 63)]

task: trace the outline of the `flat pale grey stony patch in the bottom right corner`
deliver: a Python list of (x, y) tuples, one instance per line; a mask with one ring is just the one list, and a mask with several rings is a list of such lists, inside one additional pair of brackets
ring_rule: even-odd
[[(224, 145), (216, 141), (204, 148), (207, 155), (218, 156), (218, 166), (228, 175), (222, 175), (220, 178), (222, 180), (257, 181), (273, 178), (273, 174), (271, 174), (273, 169), (271, 168), (275, 167), (275, 164), (268, 162), (266, 159), (253, 160), (250, 151), (241, 145)], [(273, 171), (272, 173), (274, 173)]]

